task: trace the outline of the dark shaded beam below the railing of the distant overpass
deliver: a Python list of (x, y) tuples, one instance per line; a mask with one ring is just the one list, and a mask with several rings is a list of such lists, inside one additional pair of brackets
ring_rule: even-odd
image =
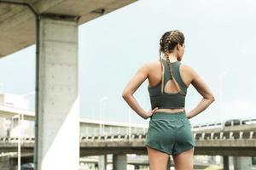
[[(121, 143), (121, 142), (120, 142)], [(32, 153), (33, 143), (22, 144), (22, 152)], [(16, 151), (17, 143), (0, 143), (0, 151), (9, 152)], [(84, 146), (83, 142), (80, 142), (80, 156), (99, 156), (105, 154), (142, 154), (147, 155), (147, 150), (144, 144), (137, 144), (131, 142), (131, 145), (126, 147), (115, 147), (97, 146), (96, 142), (94, 145), (90, 144)], [(255, 147), (201, 147), (195, 146), (195, 155), (208, 155), (208, 156), (256, 156)]]

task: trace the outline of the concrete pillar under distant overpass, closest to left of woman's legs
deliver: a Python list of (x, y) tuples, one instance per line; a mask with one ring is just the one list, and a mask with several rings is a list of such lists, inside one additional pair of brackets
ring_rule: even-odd
[(126, 170), (127, 158), (124, 155), (113, 155), (113, 170)]

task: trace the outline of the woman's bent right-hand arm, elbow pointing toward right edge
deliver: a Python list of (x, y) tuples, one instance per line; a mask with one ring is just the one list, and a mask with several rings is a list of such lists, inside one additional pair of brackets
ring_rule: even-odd
[(195, 87), (197, 92), (203, 97), (198, 105), (195, 106), (195, 109), (189, 111), (187, 114), (188, 118), (198, 115), (201, 111), (205, 111), (209, 105), (215, 100), (212, 91), (207, 86), (207, 83), (202, 80), (196, 71), (190, 67), (190, 73), (193, 77), (191, 84)]

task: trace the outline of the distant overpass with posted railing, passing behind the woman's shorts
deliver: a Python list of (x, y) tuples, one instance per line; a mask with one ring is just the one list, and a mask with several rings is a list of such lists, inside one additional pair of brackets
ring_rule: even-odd
[[(249, 135), (236, 133), (217, 133), (216, 137), (209, 138), (203, 133), (195, 133), (195, 155), (223, 156), (224, 169), (229, 169), (229, 157), (236, 158), (237, 169), (249, 169), (252, 166), (251, 156), (256, 156), (256, 132)], [(72, 138), (72, 135), (69, 136)], [(15, 152), (18, 146), (17, 138), (0, 138), (0, 151)], [(111, 154), (121, 157), (119, 163), (127, 164), (126, 154), (147, 155), (145, 148), (146, 133), (119, 134), (104, 136), (82, 136), (80, 137), (80, 156), (101, 156)], [(33, 138), (21, 140), (22, 154), (31, 154), (34, 148)], [(63, 146), (65, 147), (65, 146)], [(117, 159), (117, 158), (115, 158)], [(113, 164), (116, 164), (113, 159)], [(172, 162), (173, 165), (173, 162)], [(198, 166), (198, 165), (197, 165)]]

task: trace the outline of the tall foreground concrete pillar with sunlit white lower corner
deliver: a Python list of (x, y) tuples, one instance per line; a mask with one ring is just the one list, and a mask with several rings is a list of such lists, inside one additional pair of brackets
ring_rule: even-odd
[(79, 169), (78, 23), (60, 18), (39, 21), (37, 170)]

